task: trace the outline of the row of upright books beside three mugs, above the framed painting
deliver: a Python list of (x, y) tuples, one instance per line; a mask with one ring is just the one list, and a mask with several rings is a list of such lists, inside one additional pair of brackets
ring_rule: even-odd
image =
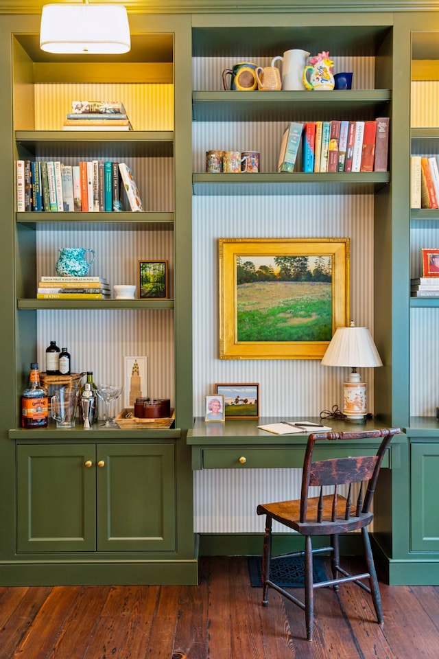
[(285, 128), (278, 172), (387, 172), (389, 117), (373, 121), (292, 122)]

